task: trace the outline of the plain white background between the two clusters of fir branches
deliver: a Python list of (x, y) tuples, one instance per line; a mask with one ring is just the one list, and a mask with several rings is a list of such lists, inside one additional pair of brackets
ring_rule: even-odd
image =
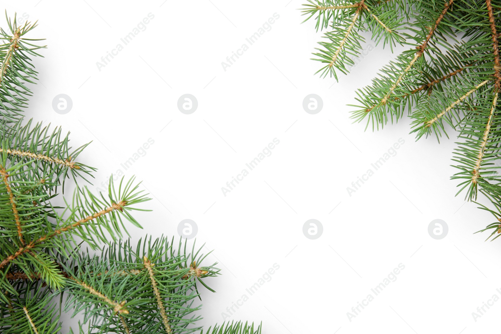
[[(471, 315), (493, 294), (501, 297), (501, 254), (499, 241), (472, 234), (493, 217), (454, 197), (455, 135), (415, 142), (407, 119), (375, 133), (351, 124), (346, 105), (390, 51), (376, 47), (339, 83), (314, 76), (319, 63), (309, 59), (321, 34), (313, 21), (300, 25), (303, 2), (34, 0), (2, 7), (39, 20), (30, 37), (46, 38), (48, 49), (35, 61), (40, 84), (32, 86), (27, 117), (71, 130), (74, 147), (93, 141), (78, 159), (99, 168), (91, 189), (154, 140), (126, 170), (153, 198), (142, 205), (153, 211), (138, 215), (144, 229), (129, 232), (136, 240), (177, 236), (182, 219), (197, 223), (197, 243), (214, 249), (206, 264), (218, 261), (222, 269), (206, 280), (217, 293), (202, 290), (202, 324), (222, 322), (226, 307), (277, 263), (271, 281), (230, 320), (262, 320), (263, 332), (293, 334), (497, 328), (501, 301), (476, 322)], [(99, 71), (96, 62), (148, 13), (154, 19), (146, 30)], [(272, 29), (224, 71), (221, 62), (274, 13), (280, 18)], [(198, 100), (191, 115), (177, 109), (186, 93)], [(324, 102), (316, 115), (302, 107), (312, 93)], [(58, 94), (73, 100), (68, 114), (52, 109)], [(280, 144), (272, 155), (223, 196), (221, 187), (274, 138)], [(399, 138), (405, 144), (396, 156), (349, 196), (351, 182)], [(324, 227), (316, 240), (302, 232), (312, 218)], [(448, 224), (444, 239), (428, 235), (433, 219)], [(399, 263), (405, 269), (397, 280), (350, 322), (347, 312)]]

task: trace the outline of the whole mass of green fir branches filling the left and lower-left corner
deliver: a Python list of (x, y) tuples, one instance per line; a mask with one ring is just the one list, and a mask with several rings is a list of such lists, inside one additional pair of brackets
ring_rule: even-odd
[[(26, 37), (36, 24), (18, 26), (15, 16), (8, 27), (0, 30), (0, 332), (60, 333), (64, 309), (81, 318), (79, 333), (261, 333), (241, 322), (203, 331), (198, 283), (213, 291), (204, 280), (219, 274), (216, 263), (199, 266), (201, 247), (174, 238), (131, 245), (127, 226), (140, 227), (133, 213), (149, 200), (139, 183), (110, 177), (107, 193), (92, 193), (79, 184), (96, 170), (78, 159), (88, 144), (74, 149), (61, 128), (23, 120), (37, 80), (32, 58), (45, 47)], [(71, 200), (54, 205), (70, 179)]]

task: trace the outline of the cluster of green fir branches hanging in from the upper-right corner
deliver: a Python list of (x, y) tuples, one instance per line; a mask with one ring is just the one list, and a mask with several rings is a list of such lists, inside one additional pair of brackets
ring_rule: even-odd
[(476, 201), (478, 192), (490, 200), (491, 208), (477, 203), (495, 217), (482, 231), (491, 231), (492, 240), (501, 235), (501, 3), (309, 0), (303, 6), (305, 21), (327, 30), (313, 59), (324, 77), (348, 73), (362, 50), (361, 34), (372, 33), (383, 46), (410, 47), (356, 92), (351, 118), (374, 131), (406, 114), (416, 140), (458, 131), (451, 178), (466, 200)]

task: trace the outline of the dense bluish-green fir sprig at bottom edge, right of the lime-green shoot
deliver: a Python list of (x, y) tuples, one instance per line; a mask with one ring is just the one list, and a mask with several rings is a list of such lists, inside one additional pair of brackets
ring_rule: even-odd
[(75, 314), (84, 311), (83, 322), (93, 332), (116, 327), (143, 333), (199, 331), (192, 326), (200, 319), (192, 314), (200, 308), (194, 304), (199, 296), (195, 284), (219, 269), (215, 263), (187, 267), (191, 257), (186, 242), (176, 246), (174, 239), (163, 237), (145, 238), (135, 247), (130, 241), (114, 243), (101, 256), (83, 253), (65, 265), (71, 272), (66, 307)]

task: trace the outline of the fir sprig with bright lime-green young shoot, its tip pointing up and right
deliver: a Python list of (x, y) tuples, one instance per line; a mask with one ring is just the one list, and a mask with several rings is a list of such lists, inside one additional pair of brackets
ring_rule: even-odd
[[(50, 204), (45, 205), (44, 209), (31, 204), (32, 209), (26, 210), (30, 219), (23, 219), (19, 224), (21, 236), (13, 212), (14, 218), (11, 220), (16, 223), (17, 228), (6, 228), (5, 237), (0, 239), (2, 250), (0, 270), (4, 278), (10, 271), (22, 272), (28, 277), (42, 278), (52, 288), (63, 287), (64, 276), (59, 265), (46, 250), (57, 249), (58, 252), (68, 255), (66, 249), (76, 246), (75, 237), (87, 241), (93, 248), (97, 248), (100, 243), (109, 243), (109, 237), (116, 239), (117, 235), (121, 236), (124, 229), (123, 217), (140, 227), (127, 211), (131, 210), (131, 206), (148, 198), (141, 195), (141, 191), (136, 191), (137, 185), (132, 185), (133, 179), (123, 188), (121, 182), (117, 194), (113, 182), (110, 182), (108, 199), (103, 195), (98, 198), (86, 188), (85, 190), (77, 188), (74, 201), (67, 208), (70, 212), (68, 216), (65, 211), (58, 213)], [(9, 193), (0, 193), (0, 199), (2, 196), (9, 196)], [(30, 202), (27, 202), (27, 206), (29, 204)], [(9, 209), (12, 210), (10, 207)], [(0, 280), (0, 287), (8, 289), (13, 294), (16, 293), (8, 280)]]

